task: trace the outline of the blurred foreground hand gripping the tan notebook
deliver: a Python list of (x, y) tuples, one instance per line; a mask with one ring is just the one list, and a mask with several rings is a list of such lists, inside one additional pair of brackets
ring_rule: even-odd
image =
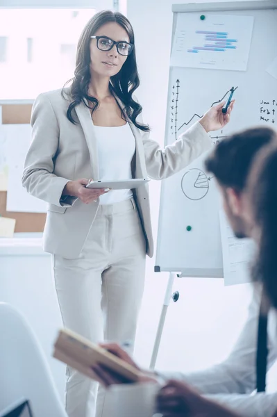
[[(133, 361), (131, 356), (122, 349), (117, 343), (101, 343), (101, 347), (108, 350), (108, 352), (115, 354), (115, 356), (119, 357), (129, 365), (133, 366), (137, 370), (140, 371), (140, 377), (137, 381), (138, 383), (144, 383), (144, 382), (157, 382), (157, 379), (151, 375), (144, 373), (137, 364)], [(104, 386), (108, 387), (113, 384), (130, 384), (131, 381), (129, 379), (126, 379), (122, 377), (121, 375), (115, 373), (114, 371), (110, 370), (106, 366), (97, 364), (96, 366), (92, 367), (93, 372), (97, 376), (97, 380)]]

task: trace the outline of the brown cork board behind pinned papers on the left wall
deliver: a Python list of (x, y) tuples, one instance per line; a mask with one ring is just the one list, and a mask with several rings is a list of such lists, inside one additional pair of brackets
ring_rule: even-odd
[[(1, 104), (2, 124), (30, 123), (32, 104)], [(15, 232), (41, 232), (46, 220), (45, 213), (15, 213), (6, 211), (7, 192), (0, 191), (0, 215), (16, 220)]]

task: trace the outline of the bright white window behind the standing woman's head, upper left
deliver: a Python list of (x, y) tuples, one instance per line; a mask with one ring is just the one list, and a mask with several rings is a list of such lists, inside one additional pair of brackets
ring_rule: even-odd
[(35, 99), (74, 75), (78, 38), (94, 9), (1, 9), (0, 99)]

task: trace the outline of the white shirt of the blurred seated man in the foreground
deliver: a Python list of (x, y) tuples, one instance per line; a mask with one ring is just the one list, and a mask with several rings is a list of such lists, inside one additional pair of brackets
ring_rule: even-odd
[[(277, 393), (253, 395), (256, 384), (256, 348), (260, 289), (254, 291), (249, 316), (240, 337), (226, 361), (202, 372), (159, 373), (165, 379), (181, 379), (195, 386), (208, 398), (230, 407), (241, 417), (271, 417), (277, 409)], [(277, 312), (270, 309), (268, 325), (267, 370), (277, 360)], [(251, 395), (252, 394), (252, 395)]]

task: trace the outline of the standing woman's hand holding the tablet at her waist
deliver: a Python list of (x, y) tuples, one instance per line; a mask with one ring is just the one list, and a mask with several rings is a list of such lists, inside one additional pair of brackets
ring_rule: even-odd
[(104, 188), (85, 188), (90, 181), (86, 178), (69, 181), (65, 186), (62, 195), (71, 195), (81, 199), (81, 202), (90, 204), (95, 202), (102, 194), (108, 193)]

